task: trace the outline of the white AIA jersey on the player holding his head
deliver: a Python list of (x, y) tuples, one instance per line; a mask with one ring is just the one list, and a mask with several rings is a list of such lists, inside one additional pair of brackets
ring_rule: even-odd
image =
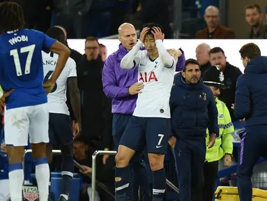
[(138, 80), (144, 82), (142, 94), (138, 94), (137, 105), (133, 113), (136, 117), (171, 118), (169, 96), (174, 83), (177, 60), (166, 68), (160, 57), (152, 61), (146, 50), (139, 51)]

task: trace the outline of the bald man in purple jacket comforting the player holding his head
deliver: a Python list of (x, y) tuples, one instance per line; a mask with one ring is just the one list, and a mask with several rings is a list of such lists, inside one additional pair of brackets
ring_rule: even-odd
[[(137, 43), (137, 33), (135, 27), (129, 23), (123, 23), (118, 29), (119, 32), (119, 50), (107, 57), (102, 70), (103, 90), (108, 98), (112, 98), (113, 125), (112, 135), (114, 147), (117, 150), (121, 136), (126, 126), (132, 118), (135, 110), (137, 94), (141, 93), (143, 84), (137, 82), (138, 68), (123, 70), (121, 68), (121, 59)], [(134, 182), (132, 188), (131, 200), (138, 200), (138, 186), (141, 186), (143, 200), (151, 200), (148, 188), (148, 177), (146, 164), (142, 160), (142, 153), (137, 153), (130, 161), (130, 168), (134, 172)], [(116, 187), (116, 186), (115, 186)], [(125, 191), (125, 188), (116, 188), (116, 191)]]

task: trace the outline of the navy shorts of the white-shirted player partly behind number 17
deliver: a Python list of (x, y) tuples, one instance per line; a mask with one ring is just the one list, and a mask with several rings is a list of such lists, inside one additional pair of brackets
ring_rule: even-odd
[(73, 123), (70, 116), (49, 113), (49, 144), (73, 144)]

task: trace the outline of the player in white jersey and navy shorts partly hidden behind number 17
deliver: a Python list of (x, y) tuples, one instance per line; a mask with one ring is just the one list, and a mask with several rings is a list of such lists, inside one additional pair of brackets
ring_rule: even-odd
[[(65, 41), (65, 34), (59, 27), (51, 27), (47, 30), (47, 36), (59, 40), (63, 43)], [(43, 52), (43, 71), (44, 82), (51, 77), (56, 67), (56, 61), (59, 55), (49, 52)], [(66, 89), (69, 86), (70, 102), (75, 114), (76, 135), (79, 134), (81, 126), (81, 112), (80, 112), (80, 95), (77, 87), (77, 73), (75, 61), (68, 58), (65, 68), (62, 70), (59, 78), (56, 80), (56, 85), (48, 98), (48, 112), (49, 112), (49, 145), (47, 145), (47, 159), (48, 163), (52, 162), (52, 144), (61, 146), (62, 153), (62, 183), (61, 196), (59, 200), (68, 200), (70, 193), (70, 186), (73, 180), (73, 123), (70, 120), (70, 112), (66, 105)], [(51, 179), (51, 176), (50, 176)]]

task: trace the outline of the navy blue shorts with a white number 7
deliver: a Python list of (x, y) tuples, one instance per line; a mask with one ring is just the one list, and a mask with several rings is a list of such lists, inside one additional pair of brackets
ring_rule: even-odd
[(147, 146), (148, 153), (165, 154), (170, 134), (170, 119), (132, 116), (120, 144), (135, 151)]

